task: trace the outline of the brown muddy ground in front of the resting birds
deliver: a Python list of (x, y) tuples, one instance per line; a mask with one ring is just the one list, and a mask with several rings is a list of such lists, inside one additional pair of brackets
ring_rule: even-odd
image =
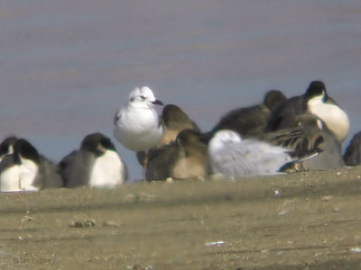
[(361, 167), (0, 194), (1, 269), (356, 269)]

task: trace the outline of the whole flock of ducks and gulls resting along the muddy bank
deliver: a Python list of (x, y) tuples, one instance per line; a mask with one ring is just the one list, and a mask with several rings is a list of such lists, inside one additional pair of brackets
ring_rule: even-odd
[[(146, 181), (277, 175), (361, 164), (361, 131), (342, 154), (347, 113), (321, 81), (312, 81), (305, 94), (289, 99), (271, 90), (263, 103), (227, 112), (208, 132), (177, 105), (165, 105), (162, 115), (154, 105), (164, 106), (149, 87), (135, 88), (114, 118), (114, 137), (136, 152)], [(2, 192), (113, 188), (127, 179), (123, 158), (99, 132), (88, 134), (57, 165), (26, 139), (11, 136), (0, 144)]]

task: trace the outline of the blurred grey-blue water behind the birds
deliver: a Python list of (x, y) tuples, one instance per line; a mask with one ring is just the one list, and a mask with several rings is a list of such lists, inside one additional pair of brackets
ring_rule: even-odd
[(230, 109), (324, 80), (361, 130), (359, 0), (16, 0), (0, 4), (0, 139), (58, 162), (101, 131), (135, 86), (180, 105), (202, 130)]

